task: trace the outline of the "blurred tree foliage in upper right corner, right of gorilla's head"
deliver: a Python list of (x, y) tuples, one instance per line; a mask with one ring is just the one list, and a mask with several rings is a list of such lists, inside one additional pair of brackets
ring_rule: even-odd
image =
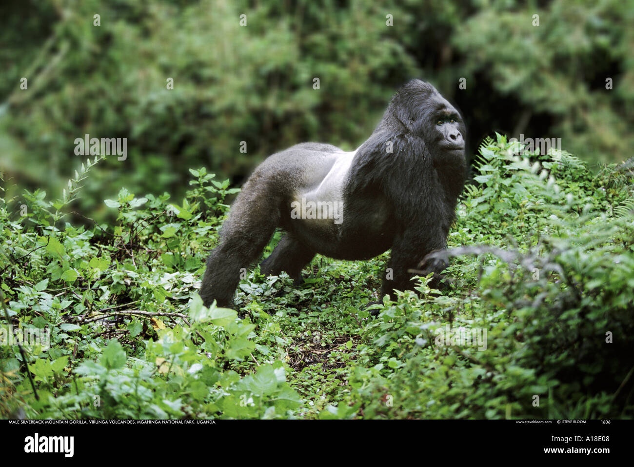
[[(515, 2), (490, 2), (498, 3)], [(466, 109), (470, 116), (482, 131), (562, 138), (567, 150), (590, 161), (631, 157), (634, 3), (528, 3), (545, 6), (482, 8), (451, 36), (465, 58), (460, 72), (476, 92), (491, 88), (495, 96), (495, 107)]]

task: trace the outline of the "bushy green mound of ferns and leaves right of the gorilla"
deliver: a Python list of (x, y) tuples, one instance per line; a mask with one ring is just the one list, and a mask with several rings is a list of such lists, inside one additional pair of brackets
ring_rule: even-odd
[[(597, 177), (569, 154), (511, 148), (499, 135), (483, 144), (481, 185), (466, 190), (452, 237), (499, 246), (454, 249), (482, 256), (451, 266), (462, 287), (437, 296), (422, 285), (422, 300), (387, 302), (367, 327), (366, 358), (379, 363), (351, 381), (365, 416), (632, 415), (634, 223), (611, 208), (631, 199), (631, 176), (614, 183), (613, 167)], [(486, 350), (434, 345), (445, 324), (487, 329)]]

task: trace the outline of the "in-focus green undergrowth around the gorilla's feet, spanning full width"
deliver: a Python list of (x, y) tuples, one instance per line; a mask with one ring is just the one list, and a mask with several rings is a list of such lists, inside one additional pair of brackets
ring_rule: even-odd
[[(480, 148), (446, 288), (422, 277), (376, 318), (365, 307), (381, 299), (387, 254), (317, 256), (301, 287), (255, 268), (240, 316), (202, 306), (205, 256), (236, 192), (205, 169), (181, 200), (122, 188), (105, 200), (115, 225), (73, 210), (98, 160), (60, 199), (3, 197), (0, 414), (631, 418), (632, 169), (595, 173), (516, 145), (498, 135)], [(41, 340), (21, 353), (19, 335)]]

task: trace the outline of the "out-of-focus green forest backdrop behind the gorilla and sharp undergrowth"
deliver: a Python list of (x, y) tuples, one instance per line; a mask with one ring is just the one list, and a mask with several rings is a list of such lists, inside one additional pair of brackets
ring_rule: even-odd
[[(411, 77), (458, 103), (472, 148), (498, 130), (562, 138), (593, 161), (623, 160), (634, 143), (633, 6), (5, 0), (0, 169), (59, 190), (80, 162), (74, 139), (88, 133), (127, 138), (128, 154), (100, 168), (84, 208), (103, 199), (90, 194), (121, 186), (180, 195), (194, 166), (240, 182), (266, 155), (300, 141), (356, 147)], [(460, 77), (467, 89), (458, 89)]]

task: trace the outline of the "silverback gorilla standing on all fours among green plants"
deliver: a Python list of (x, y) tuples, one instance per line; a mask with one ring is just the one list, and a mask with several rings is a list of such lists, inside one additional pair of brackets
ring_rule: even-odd
[[(414, 79), (392, 97), (370, 138), (345, 152), (301, 143), (269, 156), (242, 188), (207, 260), (205, 306), (233, 308), (241, 268), (257, 260), (275, 228), (285, 235), (261, 272), (302, 282), (316, 253), (368, 260), (392, 249), (381, 296), (411, 289), (411, 268), (446, 247), (465, 180), (465, 126), (431, 84)], [(425, 264), (434, 272), (443, 261)]]

